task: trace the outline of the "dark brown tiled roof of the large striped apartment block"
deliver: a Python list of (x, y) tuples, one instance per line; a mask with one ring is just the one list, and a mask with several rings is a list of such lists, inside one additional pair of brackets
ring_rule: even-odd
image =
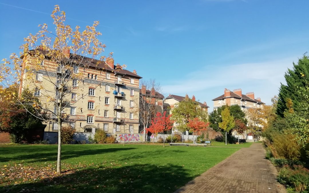
[[(42, 50), (40, 48), (36, 48), (36, 50), (40, 51), (45, 56), (47, 55), (47, 52), (45, 50)], [(31, 51), (33, 51), (33, 50), (30, 50), (30, 52)], [(80, 56), (80, 55), (74, 55), (74, 54), (70, 53), (70, 58), (72, 58), (72, 57), (74, 57), (76, 59), (78, 57), (80, 57), (80, 58), (82, 58), (82, 63), (89, 64), (89, 66), (94, 67), (94, 68), (104, 69), (104, 70), (108, 70), (108, 71), (114, 71), (115, 73), (133, 76), (133, 77), (136, 77), (138, 79), (142, 78), (141, 76), (138, 76), (137, 74), (130, 72), (129, 70), (125, 70), (125, 69), (115, 70), (116, 65), (114, 65), (114, 69), (112, 69), (104, 61), (100, 61), (100, 63), (97, 64), (97, 62), (99, 60), (96, 60), (96, 59), (93, 59), (93, 58), (88, 58), (88, 57), (83, 57), (83, 56)]]

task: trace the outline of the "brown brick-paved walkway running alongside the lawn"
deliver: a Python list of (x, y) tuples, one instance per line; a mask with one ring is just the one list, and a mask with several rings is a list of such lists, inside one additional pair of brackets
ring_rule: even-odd
[(176, 192), (286, 192), (261, 143), (242, 148)]

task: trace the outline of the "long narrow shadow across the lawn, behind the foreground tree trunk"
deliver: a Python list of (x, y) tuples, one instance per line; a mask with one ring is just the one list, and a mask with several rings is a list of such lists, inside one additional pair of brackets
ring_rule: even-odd
[[(76, 148), (74, 150), (62, 151), (61, 159), (66, 160), (72, 157), (95, 155), (95, 154), (102, 154), (102, 153), (112, 153), (112, 152), (132, 150), (132, 149), (136, 149), (136, 148), (105, 148), (105, 149), (78, 149)], [(22, 160), (27, 160), (27, 161), (24, 161), (24, 163), (33, 163), (33, 162), (40, 162), (40, 161), (44, 161), (44, 162), (57, 161), (57, 149), (53, 149), (53, 151), (48, 151), (48, 153), (46, 153), (46, 151), (36, 152), (36, 150), (34, 150), (28, 154), (17, 154), (16, 153), (15, 156), (13, 157), (0, 157), (0, 162), (9, 162), (9, 161), (18, 162)]]

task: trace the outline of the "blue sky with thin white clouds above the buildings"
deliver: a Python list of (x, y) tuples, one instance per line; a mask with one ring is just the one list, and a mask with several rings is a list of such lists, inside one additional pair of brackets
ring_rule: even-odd
[(309, 51), (307, 0), (4, 1), (0, 0), (0, 58), (19, 53), (39, 24), (52, 27), (54, 5), (72, 28), (100, 21), (99, 40), (163, 94), (194, 94), (213, 110), (224, 88), (278, 94), (284, 73)]

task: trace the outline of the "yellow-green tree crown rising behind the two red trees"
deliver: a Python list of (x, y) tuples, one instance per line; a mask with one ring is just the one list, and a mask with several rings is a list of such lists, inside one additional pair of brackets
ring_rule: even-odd
[(192, 101), (191, 99), (180, 101), (178, 106), (176, 106), (172, 112), (171, 119), (176, 121), (181, 132), (189, 130), (188, 127), (189, 120), (194, 118), (199, 118), (205, 123), (208, 122), (208, 113), (204, 111), (197, 103), (197, 101)]

